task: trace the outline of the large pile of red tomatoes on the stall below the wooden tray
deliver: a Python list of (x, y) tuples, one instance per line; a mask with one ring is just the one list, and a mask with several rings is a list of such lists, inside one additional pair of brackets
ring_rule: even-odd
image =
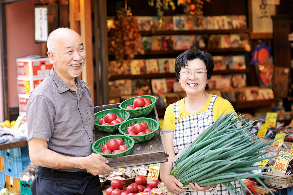
[(136, 176), (135, 183), (129, 184), (127, 187), (123, 186), (123, 182), (120, 179), (114, 179), (111, 181), (111, 187), (106, 189), (106, 195), (135, 195), (139, 192), (151, 192), (157, 189), (159, 180), (151, 180), (147, 184), (147, 178), (145, 176)]

